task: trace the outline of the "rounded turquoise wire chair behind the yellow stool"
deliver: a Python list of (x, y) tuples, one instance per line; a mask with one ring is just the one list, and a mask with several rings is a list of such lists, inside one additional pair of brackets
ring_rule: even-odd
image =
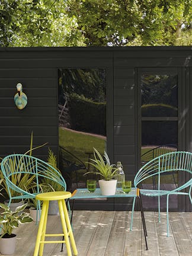
[[(41, 180), (43, 180), (43, 178), (55, 181), (55, 183), (63, 187), (63, 191), (66, 191), (66, 183), (60, 172), (53, 168), (52, 165), (34, 156), (22, 154), (5, 156), (1, 162), (1, 171), (7, 184), (9, 194), (8, 206), (11, 204), (12, 199), (34, 199), (36, 194), (42, 192)], [(27, 180), (31, 180), (31, 190), (28, 189), (25, 184), (16, 182), (16, 180), (21, 181), (24, 175), (27, 175)], [(12, 190), (16, 192), (16, 196), (12, 196)], [(36, 191), (35, 193), (34, 190)], [(68, 208), (71, 214), (69, 201)], [(37, 203), (37, 216), (38, 214), (40, 216), (39, 201)]]

